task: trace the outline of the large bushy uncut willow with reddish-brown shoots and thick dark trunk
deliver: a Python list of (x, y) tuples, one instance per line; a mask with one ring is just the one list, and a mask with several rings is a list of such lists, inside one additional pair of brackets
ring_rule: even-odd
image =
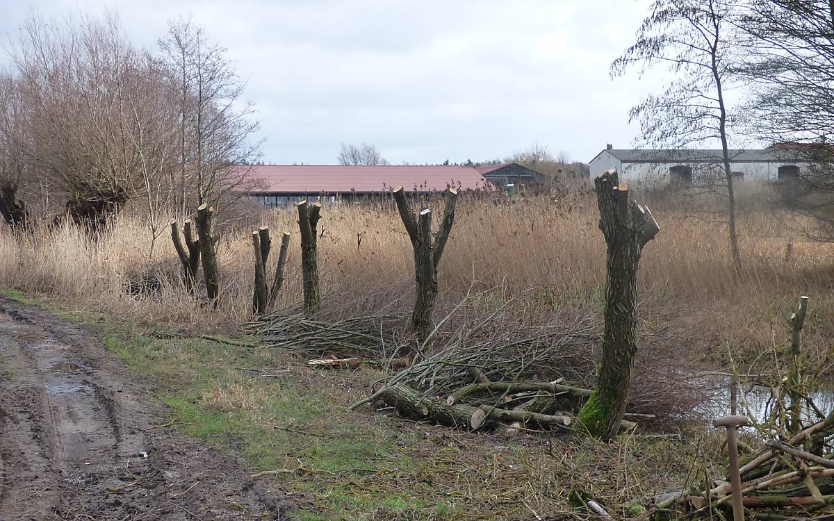
[(31, 18), (12, 58), (31, 111), (33, 167), (75, 222), (98, 229), (140, 184), (123, 114), (127, 76), (142, 58), (112, 17)]

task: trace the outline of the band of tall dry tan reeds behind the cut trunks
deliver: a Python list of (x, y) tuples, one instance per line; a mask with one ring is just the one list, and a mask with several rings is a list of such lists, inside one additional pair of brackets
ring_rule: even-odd
[[(726, 227), (710, 213), (707, 198), (651, 199), (661, 233), (646, 246), (640, 288), (646, 302), (686, 309), (757, 310), (799, 293), (824, 293), (834, 280), (831, 249), (792, 233), (761, 190), (741, 201), (739, 219), (744, 267), (731, 263)], [(249, 230), (267, 224), (277, 237), (293, 234), (281, 305), (301, 298), (299, 234), (293, 208), (252, 215), (221, 230), (223, 286), (219, 310), (200, 306), (178, 283), (173, 246), (163, 235), (150, 253), (150, 235), (139, 215), (125, 214), (113, 228), (90, 238), (72, 224), (15, 235), (0, 232), (4, 262), (0, 284), (128, 318), (173, 323), (241, 323), (249, 318), (253, 259)], [(597, 228), (595, 201), (573, 194), (545, 198), (462, 198), (455, 228), (440, 263), (440, 296), (459, 299), (473, 280), (496, 295), (536, 288), (535, 300), (550, 306), (598, 308), (604, 285), (605, 244)], [(412, 253), (393, 207), (331, 205), (319, 224), (319, 265), (326, 291), (344, 301), (372, 290), (409, 300)], [(786, 258), (788, 244), (790, 256)], [(268, 271), (274, 266), (273, 255)], [(131, 281), (154, 273), (161, 287), (134, 295)], [(161, 276), (160, 276), (161, 275)], [(721, 313), (716, 311), (716, 317)], [(752, 312), (751, 312), (752, 313)], [(726, 318), (721, 318), (726, 320)]]

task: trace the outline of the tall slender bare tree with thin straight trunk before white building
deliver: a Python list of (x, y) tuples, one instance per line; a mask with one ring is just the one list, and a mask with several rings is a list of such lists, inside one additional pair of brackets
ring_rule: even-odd
[(726, 100), (726, 92), (737, 87), (737, 31), (732, 22), (736, 9), (724, 0), (656, 0), (636, 43), (612, 63), (611, 73), (621, 76), (639, 64), (641, 71), (666, 66), (673, 74), (666, 91), (631, 109), (630, 118), (639, 121), (648, 143), (658, 148), (720, 144), (720, 158), (691, 159), (719, 166), (720, 176), (706, 176), (708, 188), (726, 198), (730, 251), (733, 263), (740, 268), (729, 148), (734, 118)]

